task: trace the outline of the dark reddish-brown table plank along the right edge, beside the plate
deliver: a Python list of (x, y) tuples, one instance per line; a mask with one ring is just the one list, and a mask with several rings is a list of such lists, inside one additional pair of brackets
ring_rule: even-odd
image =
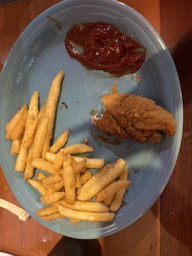
[(179, 158), (161, 196), (161, 255), (192, 255), (192, 1), (160, 1), (161, 36), (179, 72), (184, 130)]

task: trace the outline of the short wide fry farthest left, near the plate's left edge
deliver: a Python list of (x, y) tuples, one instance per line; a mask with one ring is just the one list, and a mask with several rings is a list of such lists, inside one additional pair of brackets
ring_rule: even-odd
[[(7, 132), (6, 134), (7, 139), (12, 138), (12, 140), (17, 140), (17, 138), (19, 138), (19, 136), (24, 131), (27, 116), (28, 116), (28, 106), (27, 104), (24, 104), (22, 108), (19, 111), (17, 111), (17, 113), (13, 116), (13, 118), (10, 120), (10, 122), (8, 122), (8, 124), (5, 127)], [(17, 129), (16, 129), (16, 126), (17, 126)], [(15, 133), (16, 133), (16, 136), (15, 136)]]

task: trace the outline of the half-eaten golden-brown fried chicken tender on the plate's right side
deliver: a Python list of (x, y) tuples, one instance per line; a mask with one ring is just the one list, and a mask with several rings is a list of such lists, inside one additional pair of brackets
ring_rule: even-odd
[(112, 92), (102, 97), (105, 107), (102, 117), (92, 119), (100, 130), (139, 143), (161, 141), (161, 131), (168, 136), (175, 134), (173, 115), (156, 102), (138, 95)]

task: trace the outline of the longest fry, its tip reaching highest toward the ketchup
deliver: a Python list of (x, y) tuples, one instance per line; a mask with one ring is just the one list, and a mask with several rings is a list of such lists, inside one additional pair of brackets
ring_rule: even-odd
[(54, 116), (56, 112), (56, 106), (58, 104), (58, 98), (60, 96), (61, 82), (63, 80), (64, 73), (60, 71), (56, 77), (54, 77), (51, 88), (49, 90), (49, 95), (46, 100), (45, 115), (49, 118), (49, 125), (47, 129), (47, 134), (45, 137), (45, 143), (42, 150), (42, 156), (45, 156), (45, 152), (49, 151), (49, 143), (52, 137), (52, 126), (54, 124)]

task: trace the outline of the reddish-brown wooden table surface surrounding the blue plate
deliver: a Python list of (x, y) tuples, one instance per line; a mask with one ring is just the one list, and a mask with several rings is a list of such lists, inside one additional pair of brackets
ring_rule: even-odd
[[(39, 13), (59, 0), (24, 0), (0, 7), (0, 70), (17, 37)], [(184, 132), (173, 175), (160, 200), (140, 220), (100, 239), (104, 255), (192, 255), (192, 1), (124, 0), (160, 33), (179, 72)], [(0, 168), (0, 198), (19, 205)], [(61, 238), (32, 218), (25, 223), (0, 209), (0, 250), (18, 256), (45, 256)], [(126, 242), (125, 242), (126, 239)]]

